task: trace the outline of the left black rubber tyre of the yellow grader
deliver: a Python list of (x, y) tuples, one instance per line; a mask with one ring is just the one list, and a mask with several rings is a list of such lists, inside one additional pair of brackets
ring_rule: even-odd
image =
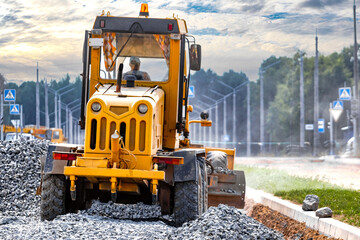
[(41, 220), (53, 220), (65, 213), (65, 176), (45, 174), (41, 190)]

